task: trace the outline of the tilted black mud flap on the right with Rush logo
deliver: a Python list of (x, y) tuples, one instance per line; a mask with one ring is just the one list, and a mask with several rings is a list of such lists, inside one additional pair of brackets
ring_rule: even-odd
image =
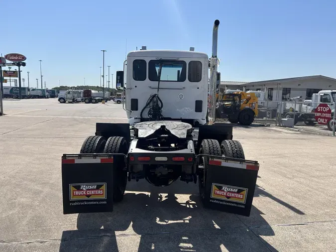
[(250, 216), (259, 170), (258, 162), (210, 157), (207, 170), (206, 207)]

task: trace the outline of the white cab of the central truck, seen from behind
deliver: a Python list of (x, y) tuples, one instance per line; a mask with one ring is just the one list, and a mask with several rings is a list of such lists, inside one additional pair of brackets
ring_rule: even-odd
[(164, 120), (206, 124), (208, 66), (208, 55), (201, 52), (146, 49), (129, 52), (126, 77), (122, 78), (126, 83), (123, 107), (129, 123), (150, 120), (148, 112), (153, 101), (149, 99), (157, 94)]

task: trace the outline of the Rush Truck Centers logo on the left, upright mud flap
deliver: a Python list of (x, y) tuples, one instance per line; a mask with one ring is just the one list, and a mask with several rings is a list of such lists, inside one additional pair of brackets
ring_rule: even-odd
[(106, 183), (70, 184), (70, 200), (106, 199)]

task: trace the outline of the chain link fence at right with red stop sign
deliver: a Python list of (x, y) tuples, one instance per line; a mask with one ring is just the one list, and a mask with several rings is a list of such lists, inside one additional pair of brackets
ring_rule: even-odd
[[(331, 111), (321, 113), (324, 120), (315, 120), (316, 109), (321, 103), (296, 101), (258, 101), (255, 123), (267, 126), (285, 126), (317, 133), (335, 135), (335, 103), (325, 103)], [(329, 112), (330, 112), (329, 111)]]

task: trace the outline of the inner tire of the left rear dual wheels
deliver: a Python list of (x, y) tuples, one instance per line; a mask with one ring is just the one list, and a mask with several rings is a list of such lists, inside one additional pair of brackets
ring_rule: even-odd
[[(111, 136), (106, 142), (104, 153), (127, 155), (128, 143), (125, 137)], [(113, 201), (120, 202), (127, 185), (127, 167), (123, 156), (113, 156)]]

